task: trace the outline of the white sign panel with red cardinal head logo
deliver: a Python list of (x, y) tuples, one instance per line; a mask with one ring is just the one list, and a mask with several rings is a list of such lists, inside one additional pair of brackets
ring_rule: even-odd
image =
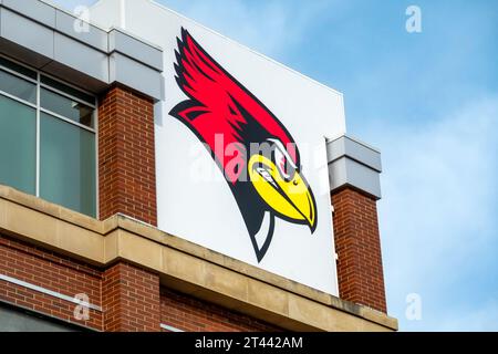
[(338, 295), (324, 137), (345, 133), (342, 95), (154, 2), (92, 11), (164, 50), (159, 229)]

